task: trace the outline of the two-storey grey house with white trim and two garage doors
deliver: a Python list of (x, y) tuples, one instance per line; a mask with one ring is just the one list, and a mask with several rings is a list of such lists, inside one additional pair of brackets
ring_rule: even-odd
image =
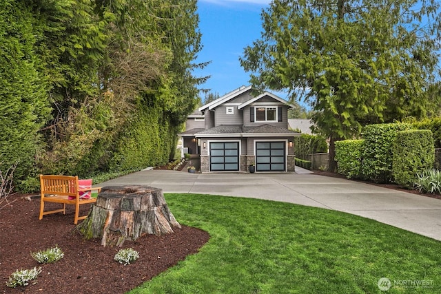
[(294, 171), (294, 136), (282, 98), (252, 87), (238, 89), (207, 103), (187, 119), (178, 134), (190, 154), (201, 158), (201, 171)]

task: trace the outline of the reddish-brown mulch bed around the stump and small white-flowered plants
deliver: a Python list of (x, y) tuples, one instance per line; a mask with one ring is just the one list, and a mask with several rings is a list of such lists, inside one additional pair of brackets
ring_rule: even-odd
[[(145, 235), (135, 242), (125, 241), (122, 247), (103, 247), (100, 240), (84, 240), (72, 233), (72, 205), (66, 215), (55, 213), (39, 220), (38, 198), (14, 195), (8, 201), (10, 205), (0, 209), (0, 293), (126, 293), (197, 253), (209, 240), (207, 232), (183, 226), (168, 235)], [(83, 205), (81, 213), (87, 213), (88, 206)], [(30, 255), (56, 245), (64, 252), (58, 262), (39, 264)], [(138, 251), (139, 260), (126, 266), (114, 261), (121, 248)], [(6, 286), (14, 271), (39, 266), (42, 272), (36, 282)]]

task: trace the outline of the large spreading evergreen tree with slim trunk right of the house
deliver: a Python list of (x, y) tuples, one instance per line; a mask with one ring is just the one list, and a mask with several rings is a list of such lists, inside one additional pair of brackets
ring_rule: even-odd
[(240, 59), (260, 89), (288, 90), (334, 142), (369, 123), (426, 116), (439, 89), (439, 3), (434, 0), (275, 0), (261, 39)]

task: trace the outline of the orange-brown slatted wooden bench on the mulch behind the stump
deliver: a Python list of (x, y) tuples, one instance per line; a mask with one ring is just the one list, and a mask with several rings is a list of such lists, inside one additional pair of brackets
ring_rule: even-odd
[[(87, 216), (79, 216), (79, 209), (81, 204), (90, 204), (96, 202), (96, 198), (80, 198), (80, 192), (87, 191), (101, 191), (101, 187), (86, 188), (83, 189), (79, 185), (78, 176), (53, 176), (53, 175), (40, 175), (41, 185), (41, 204), (40, 204), (40, 217), (51, 213), (66, 212), (66, 204), (75, 205), (75, 218), (74, 224), (78, 224), (79, 220), (84, 220)], [(56, 202), (63, 204), (63, 208), (44, 211), (45, 202)]]

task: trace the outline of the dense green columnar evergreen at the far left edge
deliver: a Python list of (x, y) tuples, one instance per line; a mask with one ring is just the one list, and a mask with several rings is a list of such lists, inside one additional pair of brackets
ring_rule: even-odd
[[(34, 53), (38, 32), (25, 3), (0, 3), (0, 170), (18, 162), (14, 180), (32, 174), (39, 134), (50, 108), (48, 82)], [(15, 182), (17, 184), (17, 182)], [(18, 182), (19, 184), (19, 182)]]

